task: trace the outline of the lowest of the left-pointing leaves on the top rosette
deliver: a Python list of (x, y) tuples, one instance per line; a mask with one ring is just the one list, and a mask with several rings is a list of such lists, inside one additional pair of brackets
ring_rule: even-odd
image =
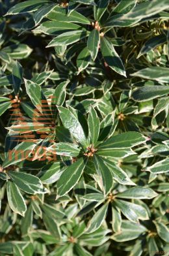
[(73, 44), (73, 42), (77, 42), (81, 39), (84, 39), (87, 36), (88, 33), (85, 29), (65, 32), (51, 40), (51, 42), (49, 42), (46, 48), (51, 46), (63, 46)]

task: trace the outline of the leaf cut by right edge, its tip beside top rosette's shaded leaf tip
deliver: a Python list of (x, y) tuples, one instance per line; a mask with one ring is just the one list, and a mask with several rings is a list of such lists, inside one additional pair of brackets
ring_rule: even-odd
[(136, 76), (147, 80), (153, 80), (159, 83), (169, 82), (167, 67), (146, 67), (146, 69), (141, 69), (140, 71), (131, 74), (131, 76)]

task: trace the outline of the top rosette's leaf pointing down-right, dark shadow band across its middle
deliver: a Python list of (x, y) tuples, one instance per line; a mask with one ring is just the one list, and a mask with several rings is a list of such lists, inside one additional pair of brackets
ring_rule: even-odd
[(116, 53), (113, 44), (105, 39), (105, 37), (101, 37), (101, 53), (103, 54), (105, 62), (113, 71), (126, 77), (122, 59), (120, 59)]

